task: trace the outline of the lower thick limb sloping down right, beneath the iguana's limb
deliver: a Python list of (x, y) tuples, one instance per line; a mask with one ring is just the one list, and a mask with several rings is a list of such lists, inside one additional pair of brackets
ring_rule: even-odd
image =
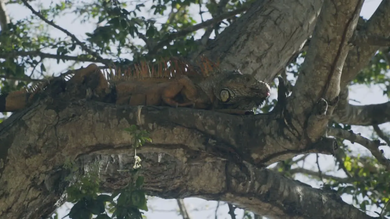
[[(131, 156), (121, 155), (121, 162), (115, 157), (98, 158), (103, 161), (101, 166), (108, 167), (101, 172), (107, 189), (113, 185), (124, 186), (131, 177), (115, 171), (120, 166), (131, 168)], [(314, 189), (268, 169), (252, 169), (249, 181), (224, 161), (186, 165), (178, 160), (172, 162), (174, 159), (170, 156), (158, 163), (157, 157), (157, 154), (149, 154), (143, 159), (145, 188), (151, 195), (222, 200), (269, 218), (374, 218), (348, 205), (335, 193)], [(156, 175), (161, 177), (156, 178)]]

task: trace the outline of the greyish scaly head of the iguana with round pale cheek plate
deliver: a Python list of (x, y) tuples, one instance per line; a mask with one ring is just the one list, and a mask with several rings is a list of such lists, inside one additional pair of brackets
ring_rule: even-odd
[(214, 90), (222, 108), (252, 110), (269, 97), (271, 88), (268, 83), (258, 81), (250, 74), (234, 70), (222, 75)]

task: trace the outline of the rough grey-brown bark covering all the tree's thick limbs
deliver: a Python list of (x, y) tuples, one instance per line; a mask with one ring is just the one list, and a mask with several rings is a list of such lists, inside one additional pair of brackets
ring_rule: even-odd
[[(383, 0), (365, 31), (389, 35), (389, 2)], [(337, 99), (347, 98), (339, 97), (340, 85), (344, 88), (378, 48), (350, 44), (362, 4), (256, 1), (204, 49), (209, 57), (220, 57), (223, 67), (271, 79), (312, 35), (293, 94), (277, 114), (241, 117), (158, 107), (139, 111), (81, 98), (69, 101), (66, 95), (48, 96), (15, 113), (0, 124), (0, 219), (50, 215), (61, 190), (49, 182), (63, 179), (67, 157), (86, 166), (99, 161), (106, 192), (126, 185), (130, 176), (116, 170), (131, 168), (132, 138), (123, 131), (131, 124), (149, 131), (153, 140), (139, 151), (151, 195), (229, 201), (271, 218), (374, 218), (333, 193), (263, 168), (298, 154), (329, 154), (334, 140), (323, 137), (327, 122), (356, 119), (334, 108)], [(364, 60), (351, 52), (360, 48)], [(327, 108), (321, 108), (324, 103)], [(374, 114), (365, 116), (370, 121)], [(159, 153), (164, 154), (161, 162)], [(239, 169), (242, 165), (250, 175)]]

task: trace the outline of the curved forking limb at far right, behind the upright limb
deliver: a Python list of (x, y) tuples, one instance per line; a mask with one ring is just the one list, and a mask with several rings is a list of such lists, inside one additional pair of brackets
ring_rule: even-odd
[[(390, 37), (389, 13), (390, 0), (383, 0), (372, 17), (359, 30), (359, 35)], [(366, 38), (366, 40), (368, 39)], [(351, 125), (375, 125), (390, 121), (390, 115), (388, 115), (390, 102), (366, 106), (356, 106), (348, 102), (348, 90), (346, 86), (368, 64), (371, 57), (379, 48), (379, 46), (363, 44), (349, 51), (340, 79), (340, 87), (344, 94), (342, 94), (342, 97), (340, 96), (339, 104), (332, 118), (336, 122)]]

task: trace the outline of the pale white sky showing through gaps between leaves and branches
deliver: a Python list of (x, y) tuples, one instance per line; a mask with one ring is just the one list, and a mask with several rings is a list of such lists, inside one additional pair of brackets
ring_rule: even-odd
[[(45, 1), (34, 1), (34, 2), (45, 2)], [(53, 2), (59, 2), (53, 0)], [(85, 1), (85, 2), (90, 2), (90, 1)], [(361, 15), (364, 18), (369, 18), (371, 15), (374, 13), (378, 5), (380, 4), (381, 0), (366, 0), (363, 9), (361, 12)], [(50, 1), (45, 2), (43, 5), (48, 6), (50, 4)], [(146, 6), (150, 5), (151, 1), (148, 0), (146, 2)], [(37, 10), (37, 7), (35, 4), (32, 4), (32, 6)], [(147, 7), (148, 8), (148, 7)], [(25, 18), (25, 16), (30, 15), (31, 12), (23, 6), (20, 5), (7, 5), (7, 10), (11, 16), (11, 19), (21, 19)], [(195, 16), (195, 20), (199, 23), (200, 22), (200, 16), (197, 15), (197, 12), (199, 12), (198, 6), (195, 6), (192, 8), (191, 14)], [(206, 13), (205, 13), (206, 14)], [(150, 17), (147, 13), (145, 12), (139, 12), (137, 13), (138, 16), (144, 16), (145, 18)], [(204, 19), (210, 19), (211, 17), (209, 15), (204, 16)], [(69, 13), (65, 16), (61, 16), (60, 19), (55, 19), (54, 22), (71, 32), (72, 34), (76, 35), (78, 39), (83, 40), (85, 39), (85, 32), (92, 32), (95, 28), (93, 23), (83, 23), (81, 24), (79, 20), (76, 20), (76, 15)], [(166, 19), (158, 19), (160, 22), (164, 22)], [(200, 34), (197, 34), (197, 38), (201, 36), (203, 31), (200, 31)], [(57, 36), (62, 36), (64, 37), (65, 35), (60, 32), (59, 30), (50, 29), (50, 34), (53, 35), (53, 37)], [(212, 35), (214, 37), (214, 35)], [(67, 69), (67, 66), (69, 66), (71, 63), (61, 63), (57, 64), (55, 60), (51, 62), (45, 62), (46, 69), (50, 69), (50, 72), (55, 72), (56, 74), (63, 72), (65, 69)], [(85, 67), (87, 63), (83, 64)], [(80, 67), (80, 65), (77, 65), (75, 67)], [(360, 101), (360, 104), (365, 105), (365, 104), (377, 104), (377, 103), (383, 103), (388, 101), (388, 97), (383, 95), (383, 91), (379, 86), (374, 86), (371, 88), (367, 88), (365, 85), (355, 85), (351, 87), (350, 89), (350, 99), (355, 99)], [(353, 104), (356, 104), (355, 102)], [(389, 124), (383, 124), (380, 127), (384, 128), (385, 130), (389, 130)], [(353, 130), (355, 132), (361, 132), (363, 136), (369, 137), (371, 132), (369, 128), (366, 127), (353, 127)], [(356, 153), (368, 153), (368, 150), (363, 148), (362, 146), (358, 144), (351, 145), (349, 144), (351, 148), (353, 148), (354, 152)], [(390, 157), (390, 150), (388, 147), (382, 147), (381, 149), (385, 150), (385, 156)], [(328, 155), (321, 155), (320, 156), (321, 162), (321, 170), (333, 170), (334, 169), (334, 162), (333, 158), (328, 156)], [(328, 160), (329, 162), (326, 162)], [(317, 170), (316, 168), (316, 156), (315, 155), (310, 155), (310, 158), (306, 160), (305, 167), (310, 168), (312, 170)], [(343, 176), (342, 172), (338, 172), (340, 176)], [(312, 185), (313, 187), (319, 187), (315, 182), (312, 180), (309, 180), (306, 177), (301, 177), (298, 176), (296, 178), (297, 180), (300, 180), (302, 182), (305, 182), (307, 184)], [(348, 196), (343, 196), (342, 197), (344, 201), (347, 203), (351, 203), (351, 197)], [(206, 218), (214, 218), (215, 215), (215, 207), (216, 207), (216, 201), (206, 201), (202, 200), (199, 198), (186, 198), (184, 199), (184, 202), (186, 203), (186, 207), (189, 210), (190, 216), (192, 219), (206, 219)], [(70, 209), (71, 205), (67, 205)], [(64, 215), (67, 214), (67, 207), (66, 205), (62, 206), (58, 213), (59, 213), (59, 218), (62, 218)], [(161, 218), (170, 218), (170, 219), (181, 219), (178, 215), (178, 207), (176, 200), (171, 199), (171, 200), (163, 200), (160, 198), (152, 197), (148, 201), (148, 207), (149, 207), (149, 212), (145, 212), (145, 215), (147, 216), (148, 219), (161, 219)], [(371, 211), (378, 211), (376, 208), (369, 209)], [(218, 210), (218, 219), (230, 219), (230, 215), (227, 214), (229, 211), (228, 207), (226, 204), (222, 205), (219, 207)], [(236, 214), (238, 214), (237, 218), (242, 218), (243, 211), (242, 210), (236, 210)], [(373, 212), (368, 212), (369, 215), (374, 216), (375, 214)], [(68, 217), (66, 217), (67, 219)]]

